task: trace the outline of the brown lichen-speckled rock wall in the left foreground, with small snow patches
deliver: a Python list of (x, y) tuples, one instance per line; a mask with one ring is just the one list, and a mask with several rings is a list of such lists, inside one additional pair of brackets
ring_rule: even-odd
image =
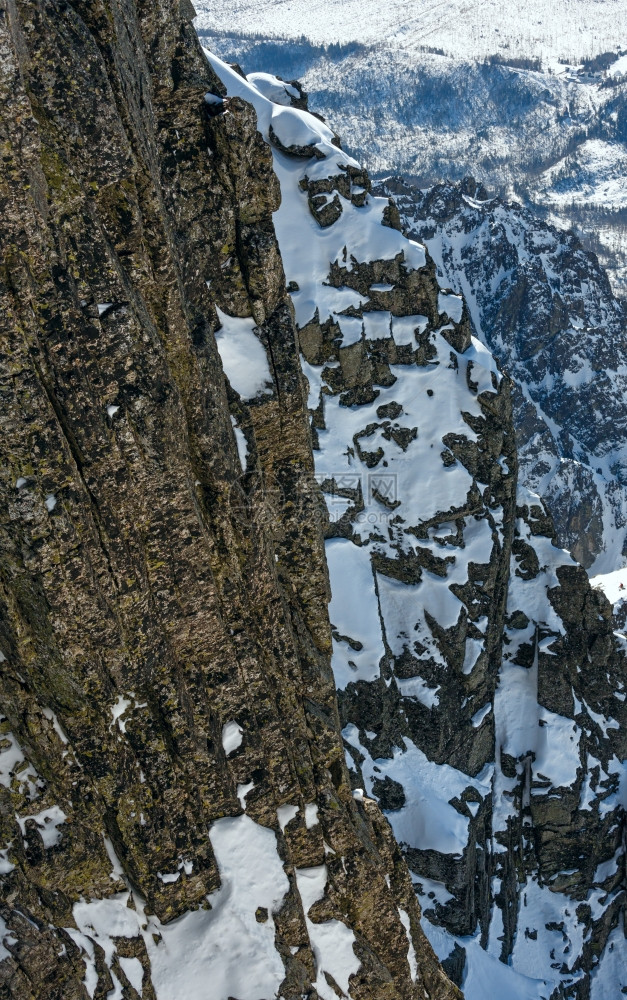
[(352, 795), (279, 187), (192, 15), (0, 8), (0, 995), (454, 997)]

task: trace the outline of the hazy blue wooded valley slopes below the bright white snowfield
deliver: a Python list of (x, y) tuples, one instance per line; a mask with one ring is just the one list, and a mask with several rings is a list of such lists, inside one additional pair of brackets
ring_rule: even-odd
[(478, 62), (471, 48), (449, 56), (398, 42), (332, 49), (233, 35), (212, 45), (245, 69), (297, 76), (371, 173), (403, 172), (421, 186), (470, 174), (575, 226), (625, 294), (627, 80), (614, 73), (617, 56), (540, 64), (528, 50), (518, 62), (511, 52)]

